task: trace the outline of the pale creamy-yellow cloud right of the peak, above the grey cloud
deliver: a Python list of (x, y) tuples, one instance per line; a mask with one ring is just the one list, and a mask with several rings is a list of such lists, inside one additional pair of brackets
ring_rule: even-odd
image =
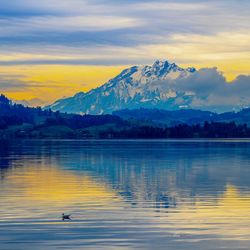
[(142, 46), (149, 56), (169, 58), (182, 66), (218, 67), (228, 80), (250, 74), (250, 34), (173, 35), (167, 43)]

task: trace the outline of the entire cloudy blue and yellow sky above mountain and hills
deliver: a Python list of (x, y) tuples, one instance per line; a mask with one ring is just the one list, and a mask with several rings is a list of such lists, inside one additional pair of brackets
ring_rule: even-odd
[(249, 0), (0, 0), (0, 92), (88, 91), (122, 69), (169, 60), (250, 74)]

